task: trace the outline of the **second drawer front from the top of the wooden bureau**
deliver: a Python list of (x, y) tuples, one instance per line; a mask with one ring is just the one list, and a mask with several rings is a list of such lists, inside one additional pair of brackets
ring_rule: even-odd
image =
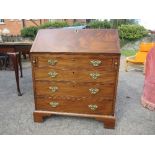
[(114, 71), (35, 69), (36, 80), (114, 83), (115, 77), (116, 72)]

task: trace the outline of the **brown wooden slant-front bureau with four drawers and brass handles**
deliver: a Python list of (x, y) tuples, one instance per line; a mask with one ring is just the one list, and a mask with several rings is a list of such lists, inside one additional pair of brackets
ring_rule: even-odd
[(115, 127), (119, 38), (114, 29), (44, 29), (31, 48), (34, 121), (92, 117)]

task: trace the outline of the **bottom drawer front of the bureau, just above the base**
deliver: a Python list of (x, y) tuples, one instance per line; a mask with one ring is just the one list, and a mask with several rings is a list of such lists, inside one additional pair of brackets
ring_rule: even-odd
[(36, 110), (54, 111), (54, 112), (67, 112), (79, 114), (99, 114), (108, 115), (113, 113), (113, 101), (102, 100), (94, 101), (81, 100), (53, 100), (50, 98), (36, 98)]

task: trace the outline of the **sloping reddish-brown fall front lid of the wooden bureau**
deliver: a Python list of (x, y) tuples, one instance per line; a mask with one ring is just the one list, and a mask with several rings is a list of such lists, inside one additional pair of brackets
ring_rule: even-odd
[(119, 37), (115, 29), (44, 29), (31, 52), (119, 53)]

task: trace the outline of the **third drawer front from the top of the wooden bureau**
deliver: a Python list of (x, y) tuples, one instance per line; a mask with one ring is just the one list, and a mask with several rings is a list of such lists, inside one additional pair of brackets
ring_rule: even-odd
[(114, 84), (36, 81), (37, 96), (86, 96), (113, 98)]

